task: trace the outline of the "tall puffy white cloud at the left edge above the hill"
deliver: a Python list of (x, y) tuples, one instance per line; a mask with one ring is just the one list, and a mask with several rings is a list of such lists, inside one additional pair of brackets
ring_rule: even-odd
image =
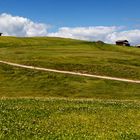
[(0, 15), (0, 32), (7, 36), (45, 36), (48, 26), (30, 19), (3, 13)]

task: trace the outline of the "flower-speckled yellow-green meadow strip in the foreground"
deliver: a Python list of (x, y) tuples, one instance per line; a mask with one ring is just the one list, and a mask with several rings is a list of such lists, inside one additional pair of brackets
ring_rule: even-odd
[(0, 139), (140, 139), (140, 103), (1, 99)]

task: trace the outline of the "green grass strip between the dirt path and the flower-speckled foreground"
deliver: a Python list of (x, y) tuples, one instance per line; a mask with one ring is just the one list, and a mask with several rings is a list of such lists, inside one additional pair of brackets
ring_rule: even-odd
[(0, 65), (0, 97), (139, 100), (140, 85)]

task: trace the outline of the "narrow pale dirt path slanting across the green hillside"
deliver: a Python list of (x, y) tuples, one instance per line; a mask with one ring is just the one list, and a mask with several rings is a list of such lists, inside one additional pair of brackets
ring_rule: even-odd
[(21, 64), (6, 62), (6, 61), (0, 61), (0, 63), (15, 66), (15, 67), (26, 68), (26, 69), (33, 69), (33, 70), (48, 71), (48, 72), (54, 72), (54, 73), (78, 75), (78, 76), (84, 76), (84, 77), (92, 77), (92, 78), (99, 78), (99, 79), (107, 79), (107, 80), (113, 80), (113, 81), (122, 81), (122, 82), (140, 84), (140, 80), (130, 80), (130, 79), (124, 79), (124, 78), (116, 78), (116, 77), (109, 77), (109, 76), (84, 74), (84, 73), (71, 72), (71, 71), (61, 71), (61, 70), (55, 70), (55, 69), (47, 69), (47, 68), (40, 68), (40, 67), (34, 67), (34, 66), (21, 65)]

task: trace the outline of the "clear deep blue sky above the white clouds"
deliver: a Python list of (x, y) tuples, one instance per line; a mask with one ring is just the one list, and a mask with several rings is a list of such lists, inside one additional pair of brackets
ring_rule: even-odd
[(139, 6), (140, 0), (0, 0), (0, 14), (50, 25), (47, 32), (60, 32), (63, 27), (85, 31), (89, 27), (115, 26), (113, 31), (120, 33), (120, 27), (124, 31), (140, 29)]

